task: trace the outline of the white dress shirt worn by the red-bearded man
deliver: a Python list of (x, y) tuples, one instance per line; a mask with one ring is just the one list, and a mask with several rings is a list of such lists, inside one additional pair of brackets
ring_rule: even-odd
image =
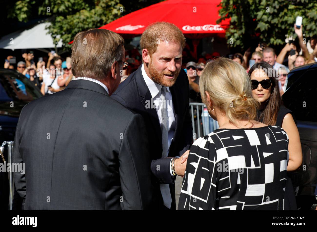
[[(141, 67), (142, 70), (142, 76), (144, 78), (144, 81), (147, 85), (147, 88), (150, 90), (153, 102), (155, 104), (156, 112), (159, 117), (159, 124), (162, 125), (162, 104), (161, 104), (161, 89), (162, 86), (158, 83), (155, 83), (150, 79), (149, 76), (147, 76), (144, 64), (142, 64)], [(166, 94), (165, 94), (165, 100), (166, 100), (166, 106), (167, 106), (167, 117), (168, 117), (168, 137), (167, 137), (167, 154), (170, 151), (170, 146), (172, 143), (172, 139), (174, 136), (175, 126), (176, 126), (176, 120), (175, 120), (175, 112), (172, 102), (172, 95), (169, 87), (166, 87)]]

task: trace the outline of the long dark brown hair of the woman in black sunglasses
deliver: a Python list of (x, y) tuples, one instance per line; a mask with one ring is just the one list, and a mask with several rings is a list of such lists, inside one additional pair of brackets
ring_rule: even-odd
[(255, 63), (249, 70), (249, 76), (256, 69), (260, 69), (265, 72), (268, 78), (272, 81), (271, 96), (268, 101), (266, 101), (264, 110), (260, 114), (258, 121), (261, 121), (266, 125), (275, 125), (277, 119), (277, 113), (279, 108), (282, 105), (280, 89), (276, 77), (278, 76), (277, 71), (273, 68), (272, 65), (268, 64), (265, 61)]

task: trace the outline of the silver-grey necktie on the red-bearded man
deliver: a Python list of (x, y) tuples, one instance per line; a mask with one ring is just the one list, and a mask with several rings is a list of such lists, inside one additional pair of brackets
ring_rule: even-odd
[[(161, 89), (161, 131), (162, 131), (162, 158), (167, 157), (167, 137), (168, 137), (168, 117), (167, 117), (167, 102), (165, 100), (166, 87)], [(171, 209), (172, 197), (169, 184), (160, 184), (160, 189), (164, 201), (164, 205)]]

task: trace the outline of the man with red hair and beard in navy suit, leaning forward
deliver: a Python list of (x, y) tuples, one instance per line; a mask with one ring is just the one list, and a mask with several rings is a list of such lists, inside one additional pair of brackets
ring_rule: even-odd
[(174, 24), (156, 22), (142, 34), (140, 46), (143, 64), (111, 97), (145, 119), (151, 148), (153, 207), (176, 210), (174, 182), (176, 175), (184, 176), (193, 137), (189, 82), (181, 69), (185, 38)]

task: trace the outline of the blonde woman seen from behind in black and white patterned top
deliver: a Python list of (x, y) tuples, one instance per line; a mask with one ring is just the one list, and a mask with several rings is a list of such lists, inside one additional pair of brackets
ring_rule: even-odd
[(259, 103), (246, 71), (218, 58), (199, 88), (219, 129), (191, 146), (178, 210), (283, 210), (288, 136), (255, 120)]

